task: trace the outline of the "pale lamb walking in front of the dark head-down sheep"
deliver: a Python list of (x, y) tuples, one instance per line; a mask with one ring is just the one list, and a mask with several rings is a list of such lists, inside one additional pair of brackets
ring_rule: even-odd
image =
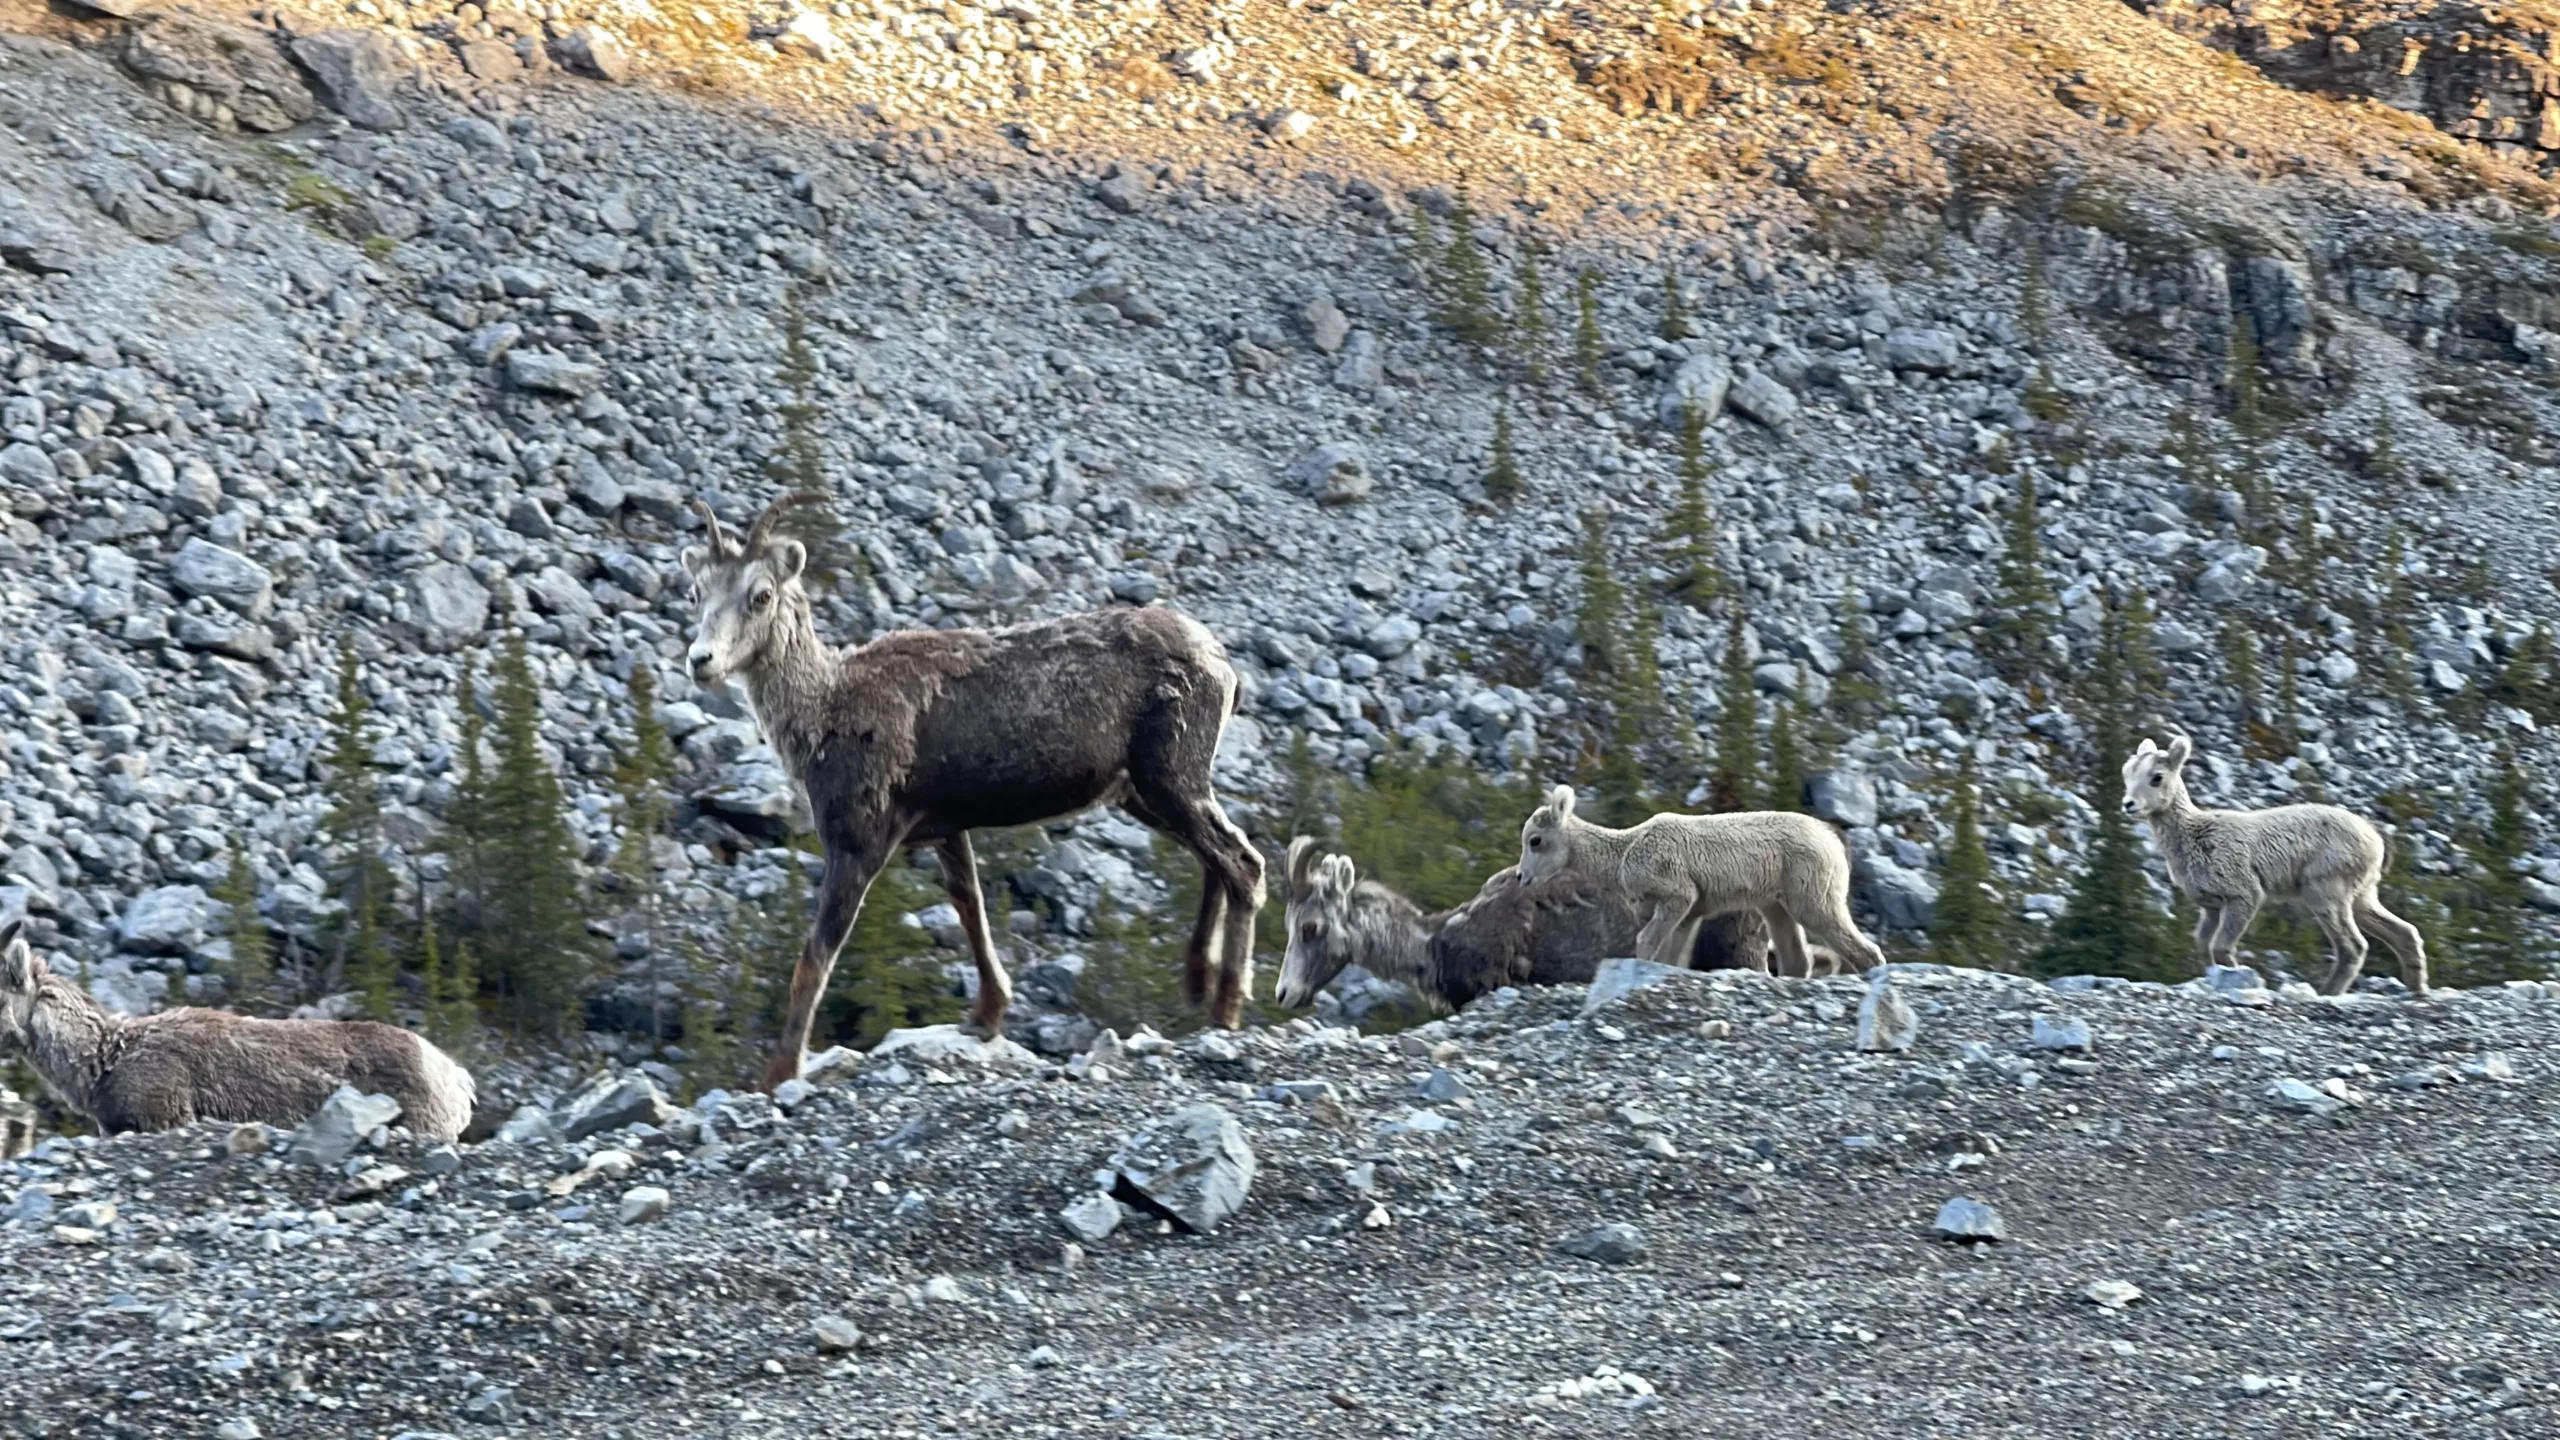
[(1615, 876), (1644, 915), (1636, 953), (1646, 961), (1677, 966), (1702, 922), (1756, 910), (1782, 974), (1815, 974), (1807, 933), (1861, 971), (1884, 963), (1848, 917), (1848, 846), (1812, 815), (1654, 815), (1610, 830), (1577, 820), (1574, 787), (1559, 784), (1521, 825), (1521, 879), (1564, 869)]

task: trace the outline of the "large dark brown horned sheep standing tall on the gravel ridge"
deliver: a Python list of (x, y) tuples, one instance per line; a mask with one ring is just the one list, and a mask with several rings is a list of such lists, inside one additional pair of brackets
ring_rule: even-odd
[(881, 866), (934, 846), (942, 889), (978, 963), (970, 1025), (996, 1035), (1014, 994), (986, 928), (968, 833), (1119, 805), (1201, 858), (1201, 912), (1183, 994), (1234, 1030), (1252, 994), (1262, 853), (1219, 807), (1211, 761), (1236, 707), (1236, 671), (1206, 625), (1165, 607), (1108, 607), (1001, 630), (893, 630), (837, 651), (817, 635), (801, 571), (809, 548), (776, 520), (824, 495), (783, 495), (681, 561), (699, 684), (745, 679), (755, 723), (809, 797), (827, 871), (791, 971), (765, 1089), (794, 1079), (835, 953)]

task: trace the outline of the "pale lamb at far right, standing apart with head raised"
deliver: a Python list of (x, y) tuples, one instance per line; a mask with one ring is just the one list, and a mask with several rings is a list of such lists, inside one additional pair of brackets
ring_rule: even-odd
[(2322, 994), (2345, 994), (2365, 969), (2365, 935), (2391, 945), (2401, 984), (2427, 994), (2427, 940), (2417, 925), (2383, 910), (2381, 830), (2335, 805), (2276, 810), (2202, 810), (2186, 794), (2186, 735), (2143, 748), (2125, 761), (2125, 812), (2150, 822), (2168, 879), (2196, 902), (2196, 948), (2207, 963), (2232, 963), (2232, 948), (2268, 899), (2312, 912), (2330, 938)]

